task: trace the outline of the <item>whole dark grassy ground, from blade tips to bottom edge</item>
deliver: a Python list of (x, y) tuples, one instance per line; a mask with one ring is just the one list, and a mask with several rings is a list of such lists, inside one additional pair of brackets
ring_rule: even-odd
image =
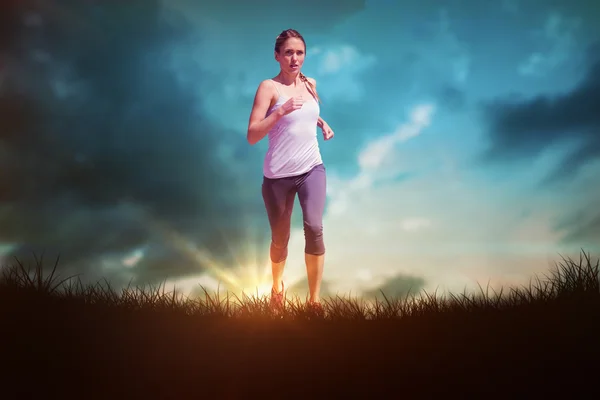
[(600, 354), (599, 263), (582, 251), (499, 292), (337, 296), (315, 316), (298, 297), (276, 315), (267, 296), (117, 291), (61, 278), (58, 260), (46, 272), (43, 259), (16, 260), (0, 277), (10, 370), (0, 389), (65, 398), (78, 388), (74, 397), (86, 399), (573, 395), (596, 390), (583, 366)]

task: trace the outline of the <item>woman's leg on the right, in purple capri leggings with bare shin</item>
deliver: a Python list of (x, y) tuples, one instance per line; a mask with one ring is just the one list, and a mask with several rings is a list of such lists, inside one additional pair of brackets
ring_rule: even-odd
[(326, 199), (326, 174), (323, 164), (310, 170), (298, 182), (298, 198), (304, 220), (304, 258), (308, 276), (309, 301), (320, 302), (321, 279), (325, 261), (323, 212)]

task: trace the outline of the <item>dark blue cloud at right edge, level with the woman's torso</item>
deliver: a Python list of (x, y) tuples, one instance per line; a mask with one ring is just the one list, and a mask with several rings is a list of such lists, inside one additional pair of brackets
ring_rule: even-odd
[(551, 146), (574, 145), (548, 183), (572, 178), (600, 156), (600, 59), (569, 93), (499, 99), (485, 106), (485, 116), (490, 145), (481, 160), (527, 162)]

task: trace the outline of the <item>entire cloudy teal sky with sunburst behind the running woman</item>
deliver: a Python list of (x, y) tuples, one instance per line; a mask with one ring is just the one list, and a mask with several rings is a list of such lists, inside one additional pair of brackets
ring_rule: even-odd
[[(594, 3), (9, 2), (1, 264), (60, 256), (62, 276), (114, 288), (270, 290), (267, 141), (246, 131), (288, 28), (335, 132), (315, 127), (323, 295), (516, 286), (597, 257)], [(284, 281), (305, 296), (297, 200), (289, 246)]]

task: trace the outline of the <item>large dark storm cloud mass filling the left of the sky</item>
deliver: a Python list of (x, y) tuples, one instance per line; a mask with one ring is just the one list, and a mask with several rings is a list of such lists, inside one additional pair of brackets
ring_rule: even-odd
[(0, 241), (94, 276), (152, 243), (139, 281), (197, 271), (165, 231), (226, 260), (248, 225), (267, 227), (258, 182), (236, 168), (260, 159), (176, 80), (170, 46), (191, 28), (163, 22), (157, 1), (114, 4), (3, 9)]

